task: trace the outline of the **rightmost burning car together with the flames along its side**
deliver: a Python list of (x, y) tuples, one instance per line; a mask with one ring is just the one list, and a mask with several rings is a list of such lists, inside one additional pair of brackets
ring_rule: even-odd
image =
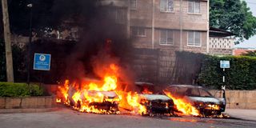
[(183, 114), (192, 114), (199, 117), (220, 116), (225, 111), (224, 99), (214, 98), (202, 86), (172, 85), (164, 90), (165, 94), (174, 99), (175, 110)]

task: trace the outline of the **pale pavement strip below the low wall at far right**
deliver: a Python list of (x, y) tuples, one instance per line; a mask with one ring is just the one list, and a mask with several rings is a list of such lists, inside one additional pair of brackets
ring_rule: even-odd
[(230, 114), (230, 117), (232, 118), (240, 118), (256, 122), (256, 110), (227, 109), (226, 113)]

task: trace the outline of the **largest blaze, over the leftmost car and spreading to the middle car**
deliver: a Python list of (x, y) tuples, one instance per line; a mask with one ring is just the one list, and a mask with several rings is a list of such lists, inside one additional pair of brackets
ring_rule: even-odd
[(146, 113), (145, 106), (140, 104), (138, 93), (118, 90), (118, 70), (117, 65), (110, 64), (99, 82), (86, 80), (78, 84), (66, 80), (63, 86), (59, 86), (62, 99), (58, 98), (57, 102), (63, 102), (81, 112), (96, 114), (118, 114), (118, 106), (128, 107), (138, 114)]

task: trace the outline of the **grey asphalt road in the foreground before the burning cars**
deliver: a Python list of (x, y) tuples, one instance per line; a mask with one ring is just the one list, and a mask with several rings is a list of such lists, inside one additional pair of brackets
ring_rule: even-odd
[(127, 114), (86, 114), (66, 108), (46, 113), (0, 114), (0, 128), (234, 128), (255, 126), (256, 122), (237, 119), (150, 118)]

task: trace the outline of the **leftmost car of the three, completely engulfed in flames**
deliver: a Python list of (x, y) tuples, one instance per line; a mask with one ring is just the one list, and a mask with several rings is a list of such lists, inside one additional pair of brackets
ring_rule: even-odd
[(95, 114), (118, 114), (120, 98), (116, 75), (118, 66), (110, 64), (102, 79), (85, 78), (82, 82), (66, 80), (58, 86), (57, 102), (71, 106), (74, 110)]

